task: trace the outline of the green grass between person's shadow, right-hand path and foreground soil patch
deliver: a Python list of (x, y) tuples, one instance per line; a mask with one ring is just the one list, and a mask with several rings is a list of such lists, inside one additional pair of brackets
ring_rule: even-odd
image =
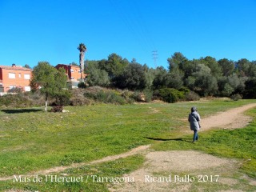
[(254, 118), (249, 126), (236, 130), (209, 130), (199, 133), (199, 142), (191, 145), (192, 134), (182, 138), (166, 138), (154, 150), (202, 150), (226, 158), (243, 159), (242, 171), (256, 178), (256, 109), (249, 110)]

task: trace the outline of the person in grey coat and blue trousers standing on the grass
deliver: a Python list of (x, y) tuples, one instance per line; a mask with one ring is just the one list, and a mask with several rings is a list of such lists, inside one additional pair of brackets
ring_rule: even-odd
[(190, 130), (194, 130), (193, 142), (198, 141), (198, 130), (200, 130), (200, 115), (197, 112), (197, 108), (193, 106), (191, 113), (189, 114)]

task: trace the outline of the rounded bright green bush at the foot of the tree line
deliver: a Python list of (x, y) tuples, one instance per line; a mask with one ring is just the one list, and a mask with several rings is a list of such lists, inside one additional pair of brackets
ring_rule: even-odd
[(154, 91), (154, 98), (159, 98), (164, 102), (178, 102), (185, 98), (185, 92), (173, 88), (164, 88)]

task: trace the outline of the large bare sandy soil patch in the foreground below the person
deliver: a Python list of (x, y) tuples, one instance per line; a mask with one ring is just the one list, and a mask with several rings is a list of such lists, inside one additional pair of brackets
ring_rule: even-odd
[[(217, 158), (194, 150), (149, 152), (142, 169), (125, 175), (134, 178), (134, 182), (112, 186), (110, 191), (190, 191), (194, 182), (178, 182), (175, 175), (181, 178), (188, 174), (206, 174), (209, 170), (219, 171), (233, 167), (234, 163), (234, 160)], [(156, 182), (159, 178), (162, 180)], [(231, 178), (219, 179), (228, 185), (237, 182)]]

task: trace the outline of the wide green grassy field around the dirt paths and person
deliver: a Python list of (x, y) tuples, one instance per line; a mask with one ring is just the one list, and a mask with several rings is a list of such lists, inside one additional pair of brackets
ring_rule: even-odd
[[(255, 100), (229, 102), (212, 100), (150, 103), (137, 105), (66, 106), (68, 113), (45, 113), (40, 108), (1, 110), (0, 177), (28, 174), (73, 162), (90, 162), (121, 154), (136, 146), (152, 144), (154, 150), (202, 150), (245, 161), (241, 171), (256, 178), (256, 122), (239, 130), (210, 130), (200, 134), (200, 145), (191, 145), (187, 115), (197, 106), (202, 118)], [(256, 110), (248, 112), (256, 117)], [(157, 139), (161, 138), (161, 139)], [(172, 140), (182, 138), (179, 141)], [(162, 141), (160, 141), (162, 140)], [(163, 142), (164, 141), (164, 142)], [(143, 157), (135, 155), (114, 162), (82, 166), (58, 175), (123, 174), (142, 166)], [(107, 191), (107, 182), (0, 182), (0, 190)]]

